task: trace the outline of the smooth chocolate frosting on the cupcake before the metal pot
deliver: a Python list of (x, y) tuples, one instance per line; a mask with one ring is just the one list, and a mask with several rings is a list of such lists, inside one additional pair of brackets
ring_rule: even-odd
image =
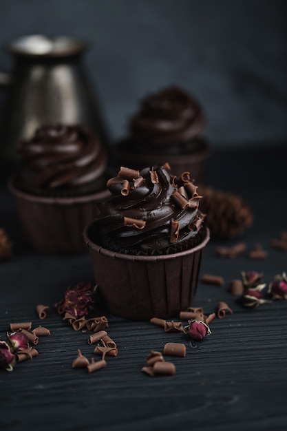
[(80, 125), (45, 125), (20, 149), (24, 178), (40, 189), (86, 185), (107, 166), (107, 156), (93, 132)]

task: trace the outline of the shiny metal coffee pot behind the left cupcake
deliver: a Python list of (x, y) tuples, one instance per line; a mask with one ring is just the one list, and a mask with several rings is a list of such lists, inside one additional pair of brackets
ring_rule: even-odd
[[(45, 124), (81, 123), (107, 144), (96, 94), (81, 62), (87, 43), (67, 36), (23, 36), (8, 45), (14, 59), (0, 129), (0, 157), (17, 160), (21, 140)], [(2, 80), (2, 83), (3, 80)]]

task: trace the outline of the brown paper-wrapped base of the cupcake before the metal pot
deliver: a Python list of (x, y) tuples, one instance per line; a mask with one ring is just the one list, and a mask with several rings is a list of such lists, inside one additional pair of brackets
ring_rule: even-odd
[(98, 215), (98, 202), (110, 196), (107, 189), (75, 198), (34, 196), (21, 191), (14, 178), (8, 188), (27, 242), (34, 251), (50, 255), (87, 252), (83, 230)]

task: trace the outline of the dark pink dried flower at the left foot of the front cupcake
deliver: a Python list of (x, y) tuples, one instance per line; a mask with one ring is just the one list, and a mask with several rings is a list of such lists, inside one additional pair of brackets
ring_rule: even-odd
[(76, 318), (87, 315), (94, 304), (94, 299), (92, 299), (94, 291), (95, 288), (91, 287), (91, 283), (84, 286), (84, 283), (81, 282), (74, 287), (70, 286), (63, 299), (55, 304), (58, 313), (70, 313)]

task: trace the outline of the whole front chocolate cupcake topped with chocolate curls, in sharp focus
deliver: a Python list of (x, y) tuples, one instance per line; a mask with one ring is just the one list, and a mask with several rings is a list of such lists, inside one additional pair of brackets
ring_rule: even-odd
[(107, 187), (111, 197), (84, 231), (107, 308), (131, 319), (178, 315), (195, 295), (209, 241), (189, 172), (121, 168)]

